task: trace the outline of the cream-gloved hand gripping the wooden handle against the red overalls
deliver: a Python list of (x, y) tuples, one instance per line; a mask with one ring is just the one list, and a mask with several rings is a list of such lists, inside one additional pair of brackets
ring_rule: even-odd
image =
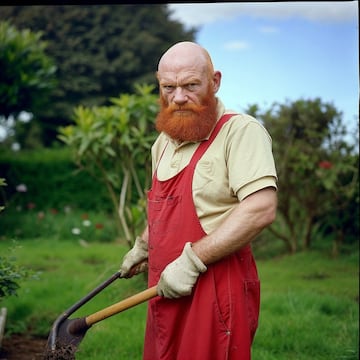
[(184, 246), (181, 255), (166, 266), (157, 285), (157, 293), (168, 299), (190, 295), (199, 275), (207, 267), (191, 249), (191, 243)]

